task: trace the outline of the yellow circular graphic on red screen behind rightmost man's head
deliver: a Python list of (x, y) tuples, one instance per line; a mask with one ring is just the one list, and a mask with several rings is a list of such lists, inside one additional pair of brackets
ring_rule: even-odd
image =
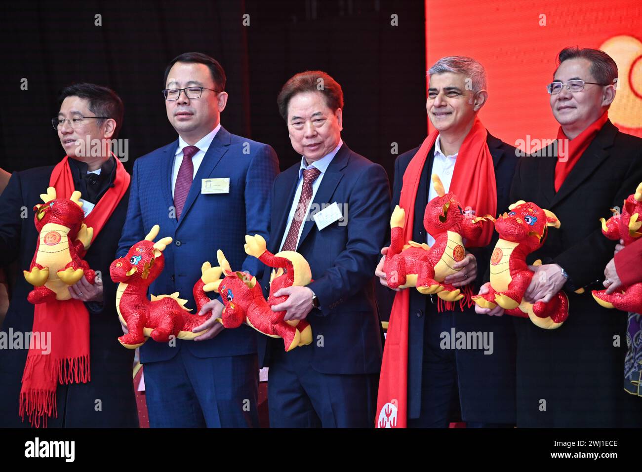
[(600, 46), (618, 65), (618, 85), (609, 118), (615, 125), (642, 128), (642, 41), (614, 36)]

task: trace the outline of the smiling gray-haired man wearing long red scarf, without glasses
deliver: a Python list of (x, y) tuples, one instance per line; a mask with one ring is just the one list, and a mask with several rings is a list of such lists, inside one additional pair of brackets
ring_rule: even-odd
[[(508, 207), (517, 158), (515, 148), (490, 135), (478, 119), (488, 98), (482, 64), (464, 56), (444, 57), (428, 74), (426, 111), (435, 130), (419, 148), (397, 158), (392, 208), (400, 205), (406, 214), (412, 213), (413, 223), (406, 224), (404, 241), (432, 245), (435, 240), (422, 224), (426, 204), (437, 196), (430, 176), (438, 175), (444, 190), (453, 191), (464, 208), (480, 216), (495, 216)], [(469, 296), (473, 286), (478, 286), (478, 272), (485, 272), (490, 259), (492, 230), (492, 225), (484, 225), (479, 240), (465, 241), (465, 254), (454, 254), (461, 254), (453, 260), (459, 272), (444, 280), (452, 290), (459, 288)], [(376, 275), (397, 294), (390, 314), (377, 415), (394, 410), (392, 404), (397, 427), (447, 427), (455, 419), (451, 412), (460, 408), (469, 427), (514, 424), (511, 322), (484, 319), (467, 305), (462, 310), (454, 304), (442, 306), (444, 302), (437, 297), (414, 289), (399, 290), (398, 281), (386, 279), (383, 272), (387, 252), (387, 247), (381, 250)], [(453, 344), (442, 342), (444, 333), (454, 336), (457, 332), (487, 333), (489, 338), (492, 334), (492, 354), (487, 350), (490, 355), (485, 355), (482, 345), (451, 349)], [(398, 346), (390, 342), (393, 339), (401, 340)]]

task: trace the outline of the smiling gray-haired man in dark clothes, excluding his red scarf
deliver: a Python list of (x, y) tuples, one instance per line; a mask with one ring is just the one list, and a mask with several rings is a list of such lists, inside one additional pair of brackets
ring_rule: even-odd
[[(432, 245), (434, 240), (423, 225), (426, 204), (437, 195), (430, 176), (436, 173), (448, 191), (455, 173), (465, 171), (456, 167), (458, 153), (488, 94), (485, 70), (472, 58), (441, 58), (429, 74), (426, 111), (438, 137), (428, 151), (419, 181), (413, 240)], [(516, 150), (490, 133), (485, 141), (494, 168), (497, 210), (503, 213), (510, 204), (508, 191), (517, 164)], [(395, 161), (393, 208), (399, 204), (406, 168), (418, 151), (415, 148), (403, 153)], [(477, 280), (489, 267), (495, 241), (496, 236), (487, 247), (467, 249), (465, 258), (454, 266), (460, 272), (446, 277), (445, 282), (462, 290), (470, 283), (478, 286)], [(382, 254), (386, 252), (387, 248), (381, 250)], [(377, 265), (376, 275), (387, 287), (384, 260), (385, 256)], [(460, 311), (458, 306), (438, 313), (437, 297), (408, 290), (408, 427), (447, 427), (456, 419), (458, 410), (469, 427), (514, 424), (516, 341), (511, 322), (483, 318), (476, 315), (474, 308)], [(487, 333), (487, 339), (492, 333), (492, 351), (482, 345), (478, 349), (443, 349), (444, 333), (451, 336), (453, 329), (456, 333)]]

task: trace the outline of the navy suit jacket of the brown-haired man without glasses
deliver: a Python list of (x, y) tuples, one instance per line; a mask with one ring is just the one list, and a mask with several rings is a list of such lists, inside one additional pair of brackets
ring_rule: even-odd
[[(299, 168), (300, 162), (274, 181), (268, 243), (273, 253), (281, 245)], [(373, 284), (390, 205), (383, 167), (352, 152), (344, 143), (325, 171), (313, 200), (319, 205), (334, 202), (342, 209), (347, 224), (334, 222), (319, 231), (309, 218), (297, 247), (310, 265), (313, 282), (309, 288), (320, 302), (320, 309), (312, 310), (307, 317), (314, 338), (312, 367), (328, 374), (373, 374), (379, 372), (383, 352)], [(265, 293), (268, 281), (266, 270)], [(269, 365), (272, 349), (283, 349), (283, 342), (263, 335), (258, 339), (259, 362)], [(287, 355), (297, 356), (297, 349)]]

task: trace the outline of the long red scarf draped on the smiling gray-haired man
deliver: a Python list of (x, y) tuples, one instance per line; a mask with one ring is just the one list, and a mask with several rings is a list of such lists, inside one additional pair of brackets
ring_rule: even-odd
[[(414, 224), (415, 198), (419, 189), (419, 180), (426, 164), (428, 153), (435, 144), (438, 131), (426, 137), (419, 151), (412, 158), (403, 175), (403, 186), (399, 206), (406, 210), (404, 222), (404, 240), (412, 239)], [(488, 132), (479, 119), (475, 119), (473, 128), (466, 135), (459, 150), (453, 171), (453, 180), (449, 191), (454, 192), (464, 206), (470, 206), (478, 215), (497, 214), (497, 184), (492, 155), (486, 143)], [(484, 231), (478, 241), (469, 241), (468, 245), (485, 246), (490, 243), (492, 225), (484, 225)], [(410, 310), (410, 292), (401, 290), (395, 295), (388, 334), (386, 335), (381, 377), (379, 378), (379, 396), (377, 398), (376, 427), (405, 428), (408, 415), (408, 311)]]

